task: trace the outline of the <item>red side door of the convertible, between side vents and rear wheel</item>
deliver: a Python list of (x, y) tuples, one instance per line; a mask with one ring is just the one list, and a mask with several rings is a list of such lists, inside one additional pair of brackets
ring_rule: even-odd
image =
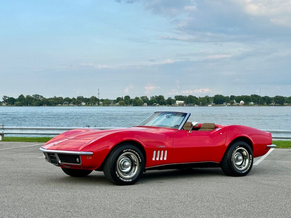
[(179, 130), (173, 140), (174, 162), (220, 162), (225, 141), (225, 128), (191, 133), (189, 130)]

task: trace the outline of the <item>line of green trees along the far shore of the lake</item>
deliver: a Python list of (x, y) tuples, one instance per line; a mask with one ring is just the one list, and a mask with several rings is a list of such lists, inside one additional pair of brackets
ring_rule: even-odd
[(14, 97), (8, 97), (3, 96), (2, 97), (2, 105), (15, 105), (15, 106), (23, 106), (23, 105), (31, 105), (31, 106), (56, 106), (56, 105), (133, 105), (133, 106), (142, 106), (144, 103), (147, 105), (173, 105), (176, 103), (176, 101), (184, 101), (185, 105), (207, 105), (207, 104), (235, 104), (235, 102), (239, 103), (240, 101), (244, 101), (245, 104), (250, 104), (253, 102), (253, 104), (278, 104), (282, 105), (285, 103), (291, 104), (291, 96), (290, 97), (284, 97), (276, 95), (275, 97), (269, 97), (269, 96), (259, 96), (257, 94), (251, 94), (251, 95), (230, 95), (230, 96), (224, 96), (224, 95), (214, 95), (214, 96), (208, 96), (205, 97), (196, 97), (193, 95), (189, 96), (183, 96), (183, 95), (176, 95), (174, 98), (168, 97), (165, 99), (163, 95), (154, 95), (150, 98), (147, 96), (141, 96), (141, 97), (135, 97), (131, 98), (129, 95), (126, 95), (124, 97), (117, 97), (116, 99), (99, 99), (95, 96), (91, 96), (89, 98), (83, 97), (83, 96), (77, 96), (75, 97), (50, 97), (45, 98), (42, 95), (39, 94), (33, 94), (24, 96), (23, 94), (19, 95), (18, 98)]

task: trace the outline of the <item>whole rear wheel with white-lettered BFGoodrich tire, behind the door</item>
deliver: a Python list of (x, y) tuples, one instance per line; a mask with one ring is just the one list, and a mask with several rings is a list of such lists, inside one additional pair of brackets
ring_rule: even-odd
[(245, 176), (253, 167), (253, 151), (243, 141), (232, 143), (222, 159), (221, 169), (229, 176)]

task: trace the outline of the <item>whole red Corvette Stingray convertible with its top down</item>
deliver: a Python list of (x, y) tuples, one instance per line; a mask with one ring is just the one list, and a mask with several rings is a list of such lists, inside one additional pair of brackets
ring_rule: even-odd
[(276, 147), (269, 132), (187, 122), (189, 117), (186, 112), (156, 112), (135, 127), (74, 129), (40, 150), (46, 161), (70, 176), (103, 171), (110, 182), (131, 185), (146, 170), (221, 167), (226, 175), (245, 176), (254, 157)]

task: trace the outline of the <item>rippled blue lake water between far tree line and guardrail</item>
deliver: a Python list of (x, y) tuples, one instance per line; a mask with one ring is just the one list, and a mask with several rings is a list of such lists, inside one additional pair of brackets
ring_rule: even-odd
[[(130, 127), (155, 111), (187, 111), (189, 121), (258, 127), (259, 107), (0, 107), (0, 124)], [(291, 130), (291, 107), (260, 107), (259, 129)]]

